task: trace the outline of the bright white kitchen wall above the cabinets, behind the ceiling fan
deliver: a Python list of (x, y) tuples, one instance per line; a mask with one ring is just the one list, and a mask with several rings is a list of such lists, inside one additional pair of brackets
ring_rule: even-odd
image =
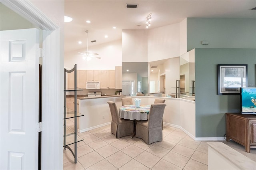
[(65, 53), (64, 66), (73, 68), (76, 64), (78, 70), (114, 70), (116, 66), (122, 66), (122, 40), (90, 46), (89, 50), (98, 53), (101, 59), (92, 58), (86, 61), (77, 51), (72, 51)]

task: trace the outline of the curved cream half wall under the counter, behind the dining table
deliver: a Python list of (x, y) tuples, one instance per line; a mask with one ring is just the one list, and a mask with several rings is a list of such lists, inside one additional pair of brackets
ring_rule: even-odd
[[(79, 118), (78, 132), (82, 133), (95, 128), (110, 125), (111, 113), (107, 101), (114, 101), (117, 108), (122, 106), (122, 97), (113, 96), (103, 98), (81, 99), (79, 102), (79, 112), (84, 116)], [(129, 96), (130, 97), (130, 96)], [(151, 96), (131, 96), (133, 102), (135, 98), (141, 99), (142, 105), (154, 103), (156, 98), (165, 99), (166, 108), (164, 110), (164, 125), (180, 128), (191, 138), (196, 140), (195, 132), (195, 102), (191, 100), (151, 97)], [(135, 102), (134, 102), (135, 104)]]

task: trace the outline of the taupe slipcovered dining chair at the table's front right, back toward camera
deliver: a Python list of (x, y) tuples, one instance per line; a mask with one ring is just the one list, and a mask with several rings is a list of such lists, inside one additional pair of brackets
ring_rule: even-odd
[(164, 115), (164, 108), (166, 104), (157, 103), (152, 104), (148, 114), (148, 121), (138, 121), (136, 125), (136, 137), (142, 138), (147, 144), (161, 141), (163, 139), (162, 133), (162, 119)]

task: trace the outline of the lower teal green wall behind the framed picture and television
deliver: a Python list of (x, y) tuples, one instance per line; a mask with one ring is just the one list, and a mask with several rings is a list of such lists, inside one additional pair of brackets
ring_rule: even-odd
[(218, 95), (218, 64), (247, 64), (248, 87), (256, 87), (256, 49), (196, 48), (196, 137), (223, 137), (225, 113), (240, 112), (240, 95)]

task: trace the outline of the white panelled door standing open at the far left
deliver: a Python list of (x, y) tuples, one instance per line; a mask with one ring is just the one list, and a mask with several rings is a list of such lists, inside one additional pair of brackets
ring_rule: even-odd
[(0, 32), (0, 169), (38, 169), (39, 30)]

